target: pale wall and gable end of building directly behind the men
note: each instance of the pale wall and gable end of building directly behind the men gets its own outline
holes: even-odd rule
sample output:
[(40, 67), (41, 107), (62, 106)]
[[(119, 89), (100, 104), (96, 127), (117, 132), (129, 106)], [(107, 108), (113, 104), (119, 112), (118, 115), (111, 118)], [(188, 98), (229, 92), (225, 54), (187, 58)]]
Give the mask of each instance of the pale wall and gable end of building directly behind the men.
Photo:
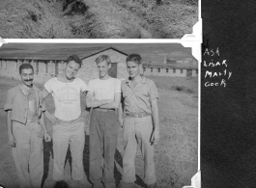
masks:
[[(82, 67), (77, 72), (77, 77), (82, 78), (87, 84), (89, 80), (98, 78), (98, 69), (95, 60), (100, 55), (108, 55), (112, 63), (118, 63), (117, 77), (126, 79), (128, 77), (126, 55), (115, 50), (109, 49), (89, 58), (83, 59)], [(62, 74), (63, 68), (66, 67), (64, 61), (43, 61), (43, 60), (0, 60), (0, 76), (19, 80), (18, 67), (23, 63), (30, 63), (34, 67), (34, 82), (44, 84), (47, 80)], [(56, 66), (57, 64), (57, 66)], [(55, 69), (57, 67), (57, 70)]]

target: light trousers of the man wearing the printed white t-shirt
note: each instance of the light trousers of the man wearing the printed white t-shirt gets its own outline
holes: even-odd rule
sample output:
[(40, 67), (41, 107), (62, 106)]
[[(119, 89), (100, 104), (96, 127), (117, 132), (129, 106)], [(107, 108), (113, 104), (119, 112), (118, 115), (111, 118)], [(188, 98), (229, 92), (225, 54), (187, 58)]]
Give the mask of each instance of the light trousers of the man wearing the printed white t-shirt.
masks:
[(84, 121), (53, 125), (53, 180), (64, 180), (65, 159), (71, 149), (71, 177), (81, 180), (84, 177), (83, 150), (85, 142)]

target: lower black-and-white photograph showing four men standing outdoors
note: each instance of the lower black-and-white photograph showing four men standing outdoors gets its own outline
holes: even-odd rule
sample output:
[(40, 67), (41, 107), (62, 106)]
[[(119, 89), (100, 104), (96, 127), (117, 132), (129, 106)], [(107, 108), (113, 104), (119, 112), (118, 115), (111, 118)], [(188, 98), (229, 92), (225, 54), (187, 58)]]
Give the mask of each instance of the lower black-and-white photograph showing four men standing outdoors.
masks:
[[(120, 9), (130, 9), (128, 5), (134, 3), (90, 3), (100, 6), (100, 2), (116, 2), (124, 6)], [(53, 13), (60, 1), (33, 3), (38, 8), (52, 5)], [(78, 20), (82, 13), (74, 12), (79, 9), (88, 10), (82, 1), (71, 1), (63, 11), (65, 22), (71, 16)], [(68, 27), (62, 24), (58, 26)], [(10, 36), (17, 36), (13, 31)], [(30, 32), (18, 37), (39, 37), (36, 30)], [(4, 43), (0, 48), (0, 185), (191, 185), (191, 177), (200, 170), (199, 75), (191, 48), (180, 43)]]

